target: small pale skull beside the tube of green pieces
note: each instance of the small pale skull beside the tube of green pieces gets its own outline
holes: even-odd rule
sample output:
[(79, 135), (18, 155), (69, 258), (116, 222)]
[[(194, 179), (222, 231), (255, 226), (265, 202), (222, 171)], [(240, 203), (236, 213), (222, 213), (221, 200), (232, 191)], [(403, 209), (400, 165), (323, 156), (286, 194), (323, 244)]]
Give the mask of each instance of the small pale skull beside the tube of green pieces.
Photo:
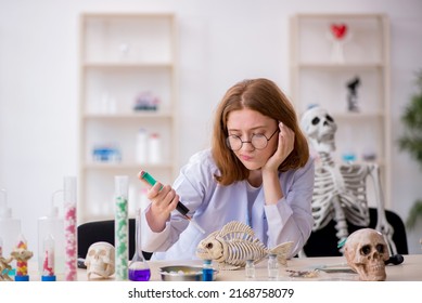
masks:
[(115, 249), (108, 242), (94, 242), (87, 252), (85, 265), (87, 265), (88, 279), (92, 274), (99, 275), (102, 278), (108, 278), (114, 274)]

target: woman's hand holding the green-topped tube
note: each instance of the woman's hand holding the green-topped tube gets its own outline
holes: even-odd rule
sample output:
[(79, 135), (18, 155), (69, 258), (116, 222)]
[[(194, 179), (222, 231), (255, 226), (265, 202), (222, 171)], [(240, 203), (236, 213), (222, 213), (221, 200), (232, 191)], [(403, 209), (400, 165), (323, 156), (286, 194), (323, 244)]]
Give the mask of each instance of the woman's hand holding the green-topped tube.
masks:
[(189, 209), (180, 201), (179, 195), (176, 194), (170, 185), (164, 186), (145, 171), (141, 171), (138, 177), (150, 186), (146, 198), (152, 203), (150, 210), (146, 212), (146, 221), (153, 232), (163, 232), (166, 227), (167, 220), (170, 218), (170, 213), (177, 209), (201, 233), (205, 234), (205, 230), (187, 214)]

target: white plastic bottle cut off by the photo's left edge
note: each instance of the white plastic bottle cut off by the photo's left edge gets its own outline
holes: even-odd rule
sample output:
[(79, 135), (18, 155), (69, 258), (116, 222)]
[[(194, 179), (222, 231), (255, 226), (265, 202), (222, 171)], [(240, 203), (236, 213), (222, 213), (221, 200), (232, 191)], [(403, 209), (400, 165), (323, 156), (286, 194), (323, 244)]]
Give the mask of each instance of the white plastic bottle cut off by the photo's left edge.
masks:
[(2, 241), (2, 255), (9, 258), (21, 235), (21, 220), (12, 218), (12, 209), (8, 208), (8, 194), (0, 189), (0, 238)]

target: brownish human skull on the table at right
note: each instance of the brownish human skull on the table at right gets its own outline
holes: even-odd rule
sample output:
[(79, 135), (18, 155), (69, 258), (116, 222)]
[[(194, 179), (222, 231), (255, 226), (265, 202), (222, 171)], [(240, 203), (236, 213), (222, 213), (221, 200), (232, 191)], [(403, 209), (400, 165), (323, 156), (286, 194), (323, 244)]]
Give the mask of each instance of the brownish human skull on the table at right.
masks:
[(381, 233), (361, 228), (347, 237), (344, 246), (347, 264), (363, 281), (386, 279), (385, 261), (389, 259), (388, 247)]

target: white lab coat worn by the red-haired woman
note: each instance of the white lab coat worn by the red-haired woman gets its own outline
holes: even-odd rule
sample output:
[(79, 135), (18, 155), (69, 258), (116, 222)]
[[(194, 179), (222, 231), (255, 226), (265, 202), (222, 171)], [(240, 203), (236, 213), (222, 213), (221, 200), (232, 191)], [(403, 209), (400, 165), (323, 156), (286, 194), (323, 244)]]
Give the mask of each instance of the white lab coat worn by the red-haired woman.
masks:
[(154, 252), (154, 260), (196, 259), (199, 242), (234, 220), (250, 224), (255, 236), (268, 248), (294, 241), (290, 255), (294, 256), (305, 245), (314, 224), (314, 160), (309, 157), (304, 168), (281, 173), (284, 197), (277, 205), (266, 206), (261, 187), (248, 211), (247, 181), (219, 185), (214, 179), (218, 169), (210, 149), (200, 152), (181, 169), (174, 188), (189, 208), (188, 214), (206, 233), (189, 224), (178, 211), (171, 213), (163, 232), (154, 233), (143, 214), (142, 250)]

